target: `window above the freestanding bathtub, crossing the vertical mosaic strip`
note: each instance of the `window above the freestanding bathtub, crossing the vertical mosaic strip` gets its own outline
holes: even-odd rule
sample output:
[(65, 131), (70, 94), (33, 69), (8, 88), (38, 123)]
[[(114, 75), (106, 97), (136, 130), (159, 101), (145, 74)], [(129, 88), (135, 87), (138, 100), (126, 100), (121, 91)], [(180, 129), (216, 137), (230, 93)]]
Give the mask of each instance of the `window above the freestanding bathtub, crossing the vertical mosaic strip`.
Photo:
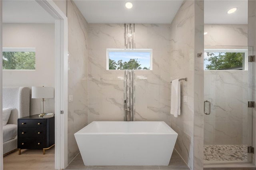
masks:
[(152, 49), (107, 49), (108, 70), (152, 70)]

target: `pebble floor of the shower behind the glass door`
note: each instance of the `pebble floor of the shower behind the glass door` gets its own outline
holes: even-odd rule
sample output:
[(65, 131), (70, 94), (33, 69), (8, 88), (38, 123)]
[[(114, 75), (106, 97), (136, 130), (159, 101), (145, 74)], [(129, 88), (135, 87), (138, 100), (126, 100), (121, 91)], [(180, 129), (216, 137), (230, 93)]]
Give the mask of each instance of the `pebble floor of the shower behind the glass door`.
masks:
[(247, 161), (247, 145), (204, 145), (204, 161)]

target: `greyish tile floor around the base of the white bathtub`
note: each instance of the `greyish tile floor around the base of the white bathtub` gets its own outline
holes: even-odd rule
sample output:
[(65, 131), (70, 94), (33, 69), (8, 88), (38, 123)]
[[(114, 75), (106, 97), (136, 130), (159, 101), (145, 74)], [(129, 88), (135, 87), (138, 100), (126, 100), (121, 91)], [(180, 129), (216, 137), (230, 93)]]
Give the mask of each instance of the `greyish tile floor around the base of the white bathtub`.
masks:
[(168, 166), (85, 166), (80, 154), (65, 170), (190, 170), (180, 155), (173, 151)]

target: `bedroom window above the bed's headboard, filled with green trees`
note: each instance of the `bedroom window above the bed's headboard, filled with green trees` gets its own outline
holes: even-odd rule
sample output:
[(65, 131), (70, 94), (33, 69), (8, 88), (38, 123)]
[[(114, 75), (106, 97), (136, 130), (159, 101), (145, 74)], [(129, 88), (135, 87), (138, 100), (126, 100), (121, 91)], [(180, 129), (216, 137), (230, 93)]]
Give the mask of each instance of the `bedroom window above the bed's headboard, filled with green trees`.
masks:
[(35, 48), (3, 48), (3, 69), (35, 70)]

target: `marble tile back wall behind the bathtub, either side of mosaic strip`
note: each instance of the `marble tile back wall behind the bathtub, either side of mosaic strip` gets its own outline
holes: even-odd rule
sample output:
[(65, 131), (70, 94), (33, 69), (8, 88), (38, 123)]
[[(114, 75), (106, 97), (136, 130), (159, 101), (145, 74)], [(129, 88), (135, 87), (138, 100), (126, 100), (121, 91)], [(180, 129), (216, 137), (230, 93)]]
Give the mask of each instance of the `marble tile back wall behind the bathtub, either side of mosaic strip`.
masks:
[[(89, 24), (88, 34), (88, 121), (123, 121), (124, 71), (106, 70), (106, 49), (125, 48), (124, 24)], [(134, 71), (135, 120), (170, 125), (170, 24), (135, 24), (135, 37), (153, 49), (153, 70)]]

